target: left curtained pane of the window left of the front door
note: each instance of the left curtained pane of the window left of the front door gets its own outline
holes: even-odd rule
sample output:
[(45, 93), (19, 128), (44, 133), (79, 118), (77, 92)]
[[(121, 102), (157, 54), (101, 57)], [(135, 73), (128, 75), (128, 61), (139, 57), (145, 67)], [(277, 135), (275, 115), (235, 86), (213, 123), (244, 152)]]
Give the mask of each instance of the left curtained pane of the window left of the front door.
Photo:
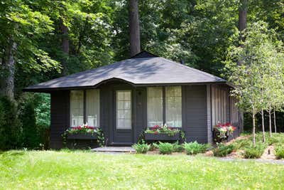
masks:
[(84, 91), (70, 91), (70, 124), (71, 127), (77, 127), (84, 122)]

